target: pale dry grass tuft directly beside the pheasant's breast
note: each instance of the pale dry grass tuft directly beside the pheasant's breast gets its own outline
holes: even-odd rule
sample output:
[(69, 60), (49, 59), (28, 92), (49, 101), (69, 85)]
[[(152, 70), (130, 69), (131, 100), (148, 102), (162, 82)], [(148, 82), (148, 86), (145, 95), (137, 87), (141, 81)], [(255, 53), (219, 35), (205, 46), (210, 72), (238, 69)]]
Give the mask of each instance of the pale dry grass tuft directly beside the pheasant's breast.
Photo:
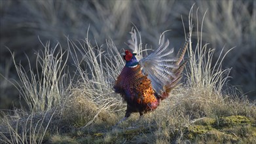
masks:
[[(113, 112), (124, 110), (121, 97), (113, 91), (113, 83), (124, 61), (113, 41), (107, 41), (106, 45), (106, 48), (92, 46), (88, 37), (77, 43), (68, 39), (68, 50), (76, 67), (77, 82), (71, 89), (71, 96), (67, 99), (66, 106), (62, 109), (62, 117), (71, 121), (80, 119), (80, 124), (76, 124), (77, 126), (86, 127), (98, 117), (102, 118), (105, 117), (103, 115), (112, 115)], [(79, 109), (83, 109), (82, 115), (81, 113), (70, 115), (69, 112), (80, 111)]]

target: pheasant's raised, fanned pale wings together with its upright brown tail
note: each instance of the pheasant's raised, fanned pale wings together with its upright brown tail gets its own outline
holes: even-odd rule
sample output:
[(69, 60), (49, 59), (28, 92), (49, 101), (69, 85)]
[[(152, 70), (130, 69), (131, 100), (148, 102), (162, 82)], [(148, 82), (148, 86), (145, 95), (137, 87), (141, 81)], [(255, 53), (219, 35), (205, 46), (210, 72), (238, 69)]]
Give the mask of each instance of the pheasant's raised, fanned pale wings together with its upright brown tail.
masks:
[[(130, 48), (134, 49), (134, 53), (138, 52), (136, 31), (131, 32), (132, 41), (129, 42)], [(181, 63), (183, 56), (189, 44), (189, 37), (185, 45), (179, 50), (177, 56), (173, 56), (174, 48), (168, 48), (169, 41), (165, 41), (164, 35), (160, 37), (160, 41), (153, 53), (142, 58), (139, 64), (142, 67), (144, 75), (151, 80), (151, 84), (156, 93), (164, 99), (168, 96), (168, 92), (177, 85), (181, 79), (183, 68), (187, 61)]]

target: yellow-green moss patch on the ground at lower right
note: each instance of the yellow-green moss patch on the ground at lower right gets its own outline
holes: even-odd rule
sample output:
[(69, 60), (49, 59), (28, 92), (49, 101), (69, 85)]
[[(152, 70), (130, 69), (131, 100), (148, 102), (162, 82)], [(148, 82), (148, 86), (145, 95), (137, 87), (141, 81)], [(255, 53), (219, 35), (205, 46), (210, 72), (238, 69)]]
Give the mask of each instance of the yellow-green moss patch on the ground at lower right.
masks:
[(244, 116), (221, 117), (219, 120), (203, 118), (185, 131), (185, 138), (193, 142), (253, 143), (255, 126)]

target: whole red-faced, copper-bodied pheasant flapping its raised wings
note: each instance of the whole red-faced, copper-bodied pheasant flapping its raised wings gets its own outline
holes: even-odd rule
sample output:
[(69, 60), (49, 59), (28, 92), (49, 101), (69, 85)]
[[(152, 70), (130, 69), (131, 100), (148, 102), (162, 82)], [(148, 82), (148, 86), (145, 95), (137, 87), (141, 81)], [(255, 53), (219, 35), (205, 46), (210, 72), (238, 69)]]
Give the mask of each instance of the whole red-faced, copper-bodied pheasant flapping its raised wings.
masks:
[[(189, 45), (190, 33), (185, 45), (179, 50), (177, 56), (168, 58), (174, 48), (167, 50), (169, 41), (160, 37), (157, 48), (145, 58), (137, 60), (138, 52), (136, 30), (130, 32), (132, 40), (128, 41), (133, 50), (125, 50), (123, 58), (126, 61), (124, 68), (113, 86), (115, 92), (122, 96), (127, 103), (125, 117), (117, 124), (130, 117), (131, 113), (143, 114), (151, 112), (158, 107), (161, 100), (166, 99), (171, 90), (181, 80), (182, 71), (187, 63), (183, 63), (184, 54)], [(166, 51), (167, 52), (164, 52)]]

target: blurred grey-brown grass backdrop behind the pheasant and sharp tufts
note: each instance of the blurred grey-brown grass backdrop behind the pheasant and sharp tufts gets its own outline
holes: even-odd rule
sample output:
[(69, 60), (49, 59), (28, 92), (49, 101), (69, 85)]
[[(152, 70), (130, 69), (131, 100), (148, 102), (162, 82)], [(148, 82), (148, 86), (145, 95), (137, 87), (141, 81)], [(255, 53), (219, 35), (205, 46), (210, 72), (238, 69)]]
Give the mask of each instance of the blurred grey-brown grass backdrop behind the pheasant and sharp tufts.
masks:
[[(221, 50), (226, 53), (235, 46), (226, 56), (223, 68), (232, 67), (230, 76), (234, 79), (230, 79), (230, 83), (237, 86), (242, 94), (254, 99), (255, 1), (1, 1), (0, 73), (19, 81), (10, 52), (5, 46), (15, 52), (16, 62), (22, 63), (28, 71), (24, 52), (29, 56), (31, 68), (36, 69), (37, 56), (33, 54), (34, 50), (44, 47), (40, 45), (38, 35), (43, 43), (50, 40), (54, 47), (60, 42), (66, 49), (65, 36), (84, 39), (89, 26), (88, 39), (94, 46), (96, 43), (105, 44), (105, 39), (112, 39), (120, 50), (126, 46), (124, 41), (128, 39), (127, 31), (130, 31), (134, 23), (141, 31), (142, 41), (149, 48), (158, 44), (156, 39), (160, 32), (172, 28), (171, 33), (166, 33), (166, 37), (177, 41), (171, 43), (171, 47), (177, 48), (184, 39), (181, 14), (183, 17), (188, 16), (193, 3), (200, 7), (197, 12), (200, 19), (208, 10), (202, 36), (204, 42), (210, 43), (208, 47), (215, 48), (213, 63), (217, 61)], [(196, 16), (194, 20), (196, 21)], [(185, 24), (188, 24), (187, 20)], [(71, 65), (73, 62), (68, 63)], [(4, 109), (12, 107), (13, 103), (9, 98), (16, 99), (19, 93), (3, 77), (0, 79), (0, 106)], [(16, 103), (14, 106), (18, 106)]]

